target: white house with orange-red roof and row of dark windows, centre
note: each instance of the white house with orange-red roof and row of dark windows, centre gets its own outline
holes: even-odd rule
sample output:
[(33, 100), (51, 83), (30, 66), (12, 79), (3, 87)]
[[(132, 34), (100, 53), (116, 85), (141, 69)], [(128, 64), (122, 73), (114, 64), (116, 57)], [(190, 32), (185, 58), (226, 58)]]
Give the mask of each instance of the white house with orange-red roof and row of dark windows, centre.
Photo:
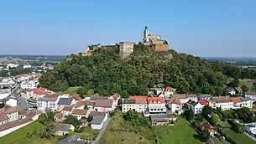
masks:
[(166, 113), (165, 99), (162, 97), (148, 97), (149, 113)]

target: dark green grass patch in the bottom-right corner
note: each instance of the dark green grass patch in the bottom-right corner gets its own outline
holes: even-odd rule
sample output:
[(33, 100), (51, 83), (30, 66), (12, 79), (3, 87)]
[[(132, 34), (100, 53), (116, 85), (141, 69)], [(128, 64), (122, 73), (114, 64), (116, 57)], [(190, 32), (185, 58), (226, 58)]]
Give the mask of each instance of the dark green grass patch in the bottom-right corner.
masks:
[(255, 144), (256, 141), (253, 141), (250, 137), (246, 136), (244, 133), (236, 133), (229, 128), (223, 129), (225, 134), (230, 137), (233, 141), (236, 141), (238, 144)]

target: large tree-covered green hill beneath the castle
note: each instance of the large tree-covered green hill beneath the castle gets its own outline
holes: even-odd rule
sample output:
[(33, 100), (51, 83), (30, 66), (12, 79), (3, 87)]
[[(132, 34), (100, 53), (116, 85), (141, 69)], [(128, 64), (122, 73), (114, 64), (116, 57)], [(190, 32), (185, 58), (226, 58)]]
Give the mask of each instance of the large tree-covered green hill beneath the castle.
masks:
[(118, 47), (97, 49), (90, 57), (70, 55), (39, 79), (40, 86), (62, 91), (83, 86), (101, 95), (119, 93), (147, 95), (157, 84), (169, 85), (180, 93), (221, 95), (229, 78), (255, 78), (252, 69), (209, 62), (175, 50), (154, 52), (149, 46), (137, 44), (128, 59), (120, 59)]

